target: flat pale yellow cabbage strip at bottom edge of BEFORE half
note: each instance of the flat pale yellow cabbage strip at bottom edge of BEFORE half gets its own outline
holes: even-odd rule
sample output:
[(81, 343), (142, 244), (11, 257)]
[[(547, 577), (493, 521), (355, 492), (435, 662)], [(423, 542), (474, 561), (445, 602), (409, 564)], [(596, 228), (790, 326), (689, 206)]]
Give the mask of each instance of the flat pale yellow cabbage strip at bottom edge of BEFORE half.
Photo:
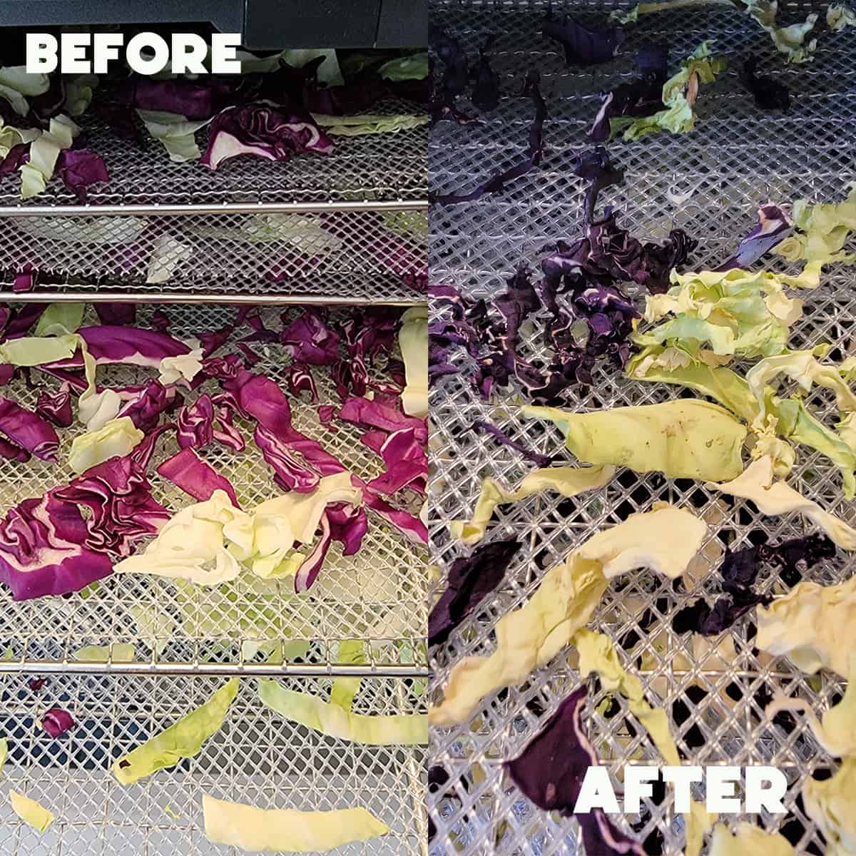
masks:
[(205, 837), (249, 853), (315, 853), (386, 835), (389, 827), (364, 808), (335, 811), (262, 809), (202, 795)]

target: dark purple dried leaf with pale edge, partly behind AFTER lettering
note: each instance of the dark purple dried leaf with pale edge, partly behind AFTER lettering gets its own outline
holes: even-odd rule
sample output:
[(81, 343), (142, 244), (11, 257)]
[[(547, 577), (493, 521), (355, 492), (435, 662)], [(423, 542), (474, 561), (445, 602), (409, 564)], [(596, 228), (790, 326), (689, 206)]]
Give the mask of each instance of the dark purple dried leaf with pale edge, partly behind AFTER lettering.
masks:
[[(598, 763), (597, 752), (582, 722), (585, 704), (586, 687), (574, 690), (523, 752), (503, 764), (512, 782), (538, 808), (558, 811), (564, 817), (574, 815), (586, 771)], [(645, 856), (639, 842), (615, 829), (603, 809), (575, 817), (582, 829), (586, 853)]]

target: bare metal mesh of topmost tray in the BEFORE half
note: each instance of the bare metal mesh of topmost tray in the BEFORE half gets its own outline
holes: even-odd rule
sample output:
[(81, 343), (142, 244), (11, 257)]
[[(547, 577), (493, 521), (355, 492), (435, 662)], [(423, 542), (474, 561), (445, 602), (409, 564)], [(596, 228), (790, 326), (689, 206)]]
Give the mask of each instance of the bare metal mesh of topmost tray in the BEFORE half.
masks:
[[(376, 104), (372, 113), (419, 114), (425, 109), (407, 101)], [(83, 116), (86, 146), (104, 158), (110, 181), (88, 194), (87, 204), (105, 205), (300, 205), (335, 207), (342, 202), (425, 202), (425, 126), (396, 134), (333, 137), (330, 155), (297, 155), (272, 163), (263, 158), (235, 158), (219, 169), (198, 161), (174, 163), (163, 146), (143, 131), (145, 143), (122, 140), (103, 124)], [(205, 152), (207, 130), (196, 135)], [(62, 208), (76, 199), (51, 181), (45, 193), (22, 202), (17, 181), (3, 182), (0, 206), (26, 210), (32, 206)], [(3, 211), (8, 213), (8, 211)]]

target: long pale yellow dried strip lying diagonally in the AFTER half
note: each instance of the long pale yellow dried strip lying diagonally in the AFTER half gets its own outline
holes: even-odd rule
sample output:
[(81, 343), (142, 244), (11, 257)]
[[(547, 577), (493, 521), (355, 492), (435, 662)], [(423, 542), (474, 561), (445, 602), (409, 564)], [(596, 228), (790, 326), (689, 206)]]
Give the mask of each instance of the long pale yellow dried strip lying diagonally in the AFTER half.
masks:
[(610, 577), (633, 568), (673, 579), (683, 574), (706, 530), (693, 514), (662, 503), (598, 532), (544, 574), (525, 606), (496, 622), (496, 651), (455, 663), (443, 703), (429, 710), (429, 722), (466, 722), (485, 696), (549, 663), (586, 626)]

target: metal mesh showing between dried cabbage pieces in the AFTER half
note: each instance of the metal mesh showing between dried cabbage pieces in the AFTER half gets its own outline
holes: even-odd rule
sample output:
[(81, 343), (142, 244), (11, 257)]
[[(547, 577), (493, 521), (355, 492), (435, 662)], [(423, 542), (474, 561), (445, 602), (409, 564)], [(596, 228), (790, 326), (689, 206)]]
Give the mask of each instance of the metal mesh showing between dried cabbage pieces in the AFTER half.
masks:
[[(501, 197), (432, 207), (432, 282), (448, 282), (467, 294), (495, 293), (520, 260), (535, 268), (550, 243), (580, 234), (584, 187), (569, 172), (569, 156), (585, 145), (586, 124), (599, 103), (597, 93), (627, 80), (634, 47), (644, 39), (667, 40), (673, 62), (707, 38), (715, 38), (716, 48), (732, 61), (755, 53), (764, 73), (787, 80), (794, 106), (788, 116), (760, 113), (741, 91), (732, 62), (721, 80), (702, 87), (698, 124), (692, 134), (610, 143), (610, 154), (626, 169), (626, 180), (621, 187), (606, 190), (599, 205), (616, 205), (625, 211), (623, 222), (631, 224), (634, 235), (662, 239), (673, 226), (680, 226), (701, 240), (693, 265), (715, 266), (728, 258), (740, 235), (752, 226), (759, 204), (768, 199), (788, 202), (801, 195), (841, 199), (847, 181), (856, 178), (852, 35), (822, 33), (815, 61), (792, 68), (774, 56), (767, 37), (751, 21), (723, 9), (695, 8), (649, 15), (628, 28), (628, 44), (615, 62), (565, 68), (556, 44), (539, 33), (545, 5), (434, 4), (433, 20), (454, 32), (471, 56), (488, 33), (498, 34), (493, 65), (501, 74), (504, 93), (520, 85), (527, 68), (538, 68), (550, 119), (544, 126), (548, 153), (541, 169), (514, 182)], [(561, 4), (554, 3), (554, 9), (557, 6)], [(575, 14), (580, 10), (578, 5), (573, 8)], [(825, 6), (817, 9), (823, 17)], [(798, 11), (788, 4), (784, 21), (795, 20)], [(530, 112), (528, 99), (505, 94), (484, 125), (438, 125), (430, 147), (432, 190), (466, 192), (497, 164), (510, 163), (515, 157), (510, 141), (520, 140), (520, 149), (526, 145)], [(683, 194), (689, 195), (680, 199)], [(800, 295), (805, 299), (805, 316), (794, 326), (792, 347), (831, 342), (834, 359), (856, 353), (854, 286), (853, 268), (833, 265), (821, 288)], [(524, 340), (525, 353), (538, 355), (542, 346), (535, 334), (527, 334)], [(738, 371), (745, 369), (738, 367)], [(517, 453), (498, 448), (490, 437), (467, 431), (473, 420), (492, 419), (539, 452), (561, 453), (559, 431), (521, 420), (515, 407), (520, 399), (514, 393), (480, 401), (466, 372), (443, 377), (431, 390), (435, 425), (431, 541), (432, 557), (441, 567), (463, 555), (461, 547), (449, 543), (449, 522), (468, 517), (481, 479), (490, 475), (517, 484), (531, 468)], [(631, 382), (601, 366), (591, 389), (572, 392), (567, 406), (599, 409), (665, 401), (678, 394), (676, 388)], [(827, 425), (834, 423), (835, 402), (829, 396), (812, 393), (805, 401)], [(853, 504), (843, 500), (835, 468), (811, 449), (798, 451), (799, 465), (791, 477), (794, 486), (853, 523)], [(565, 455), (568, 461), (560, 454), (556, 463), (574, 460)], [(750, 503), (716, 496), (700, 484), (627, 470), (603, 490), (574, 500), (544, 495), (498, 509), (485, 542), (514, 536), (523, 542), (523, 549), (495, 595), (482, 603), (449, 643), (432, 649), (431, 699), (436, 702), (442, 697), (449, 669), (461, 657), (493, 650), (492, 627), (499, 617), (526, 602), (544, 570), (564, 560), (594, 532), (634, 511), (651, 508), (658, 499), (691, 508), (708, 522), (709, 538), (701, 558), (694, 562), (683, 590), (650, 573), (615, 580), (589, 626), (615, 640), (622, 662), (642, 680), (646, 698), (667, 710), (687, 763), (773, 764), (786, 773), (788, 814), (731, 815), (727, 823), (748, 819), (767, 829), (785, 830), (797, 852), (819, 856), (825, 845), (805, 817), (800, 787), (807, 776), (835, 769), (837, 762), (823, 753), (804, 719), (794, 717), (796, 727), (788, 731), (767, 722), (763, 710), (769, 693), (781, 689), (809, 699), (819, 714), (840, 698), (842, 681), (827, 672), (809, 678), (783, 657), (759, 655), (752, 642), (751, 615), (719, 639), (677, 634), (671, 627), (675, 612), (695, 597), (704, 595), (712, 602), (716, 596), (716, 568), (726, 544), (734, 549), (758, 543), (759, 538), (788, 538), (808, 531), (793, 516), (764, 518)], [(852, 573), (852, 559), (839, 551), (835, 560), (817, 566), (804, 578), (829, 584)], [(766, 570), (758, 590), (781, 594), (787, 587)], [(519, 753), (562, 698), (579, 685), (574, 666), (574, 654), (568, 652), (522, 685), (486, 698), (470, 722), (432, 730), (429, 763), (442, 764), (449, 782), (429, 796), (429, 815), (437, 825), (431, 853), (580, 852), (576, 824), (535, 808), (503, 777), (501, 767), (502, 760)], [(626, 702), (614, 697), (609, 707), (602, 705), (608, 693), (596, 681), (589, 689), (584, 718), (603, 763), (614, 774), (631, 760), (662, 763)], [(696, 796), (703, 796), (703, 791)], [(663, 804), (644, 800), (644, 806), (643, 815), (615, 816), (616, 823), (632, 829), (646, 842), (649, 853), (681, 853), (684, 825), (675, 816), (670, 794)]]

